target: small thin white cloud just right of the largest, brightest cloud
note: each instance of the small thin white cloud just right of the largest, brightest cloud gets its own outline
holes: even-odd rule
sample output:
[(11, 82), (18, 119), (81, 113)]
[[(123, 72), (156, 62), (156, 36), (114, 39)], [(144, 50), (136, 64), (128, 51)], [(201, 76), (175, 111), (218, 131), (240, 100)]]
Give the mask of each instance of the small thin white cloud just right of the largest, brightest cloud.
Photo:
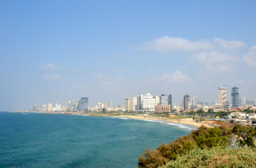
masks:
[(225, 39), (220, 38), (214, 38), (214, 42), (219, 44), (220, 47), (223, 47), (225, 49), (241, 49), (246, 47), (246, 44), (244, 44), (243, 41), (227, 41)]

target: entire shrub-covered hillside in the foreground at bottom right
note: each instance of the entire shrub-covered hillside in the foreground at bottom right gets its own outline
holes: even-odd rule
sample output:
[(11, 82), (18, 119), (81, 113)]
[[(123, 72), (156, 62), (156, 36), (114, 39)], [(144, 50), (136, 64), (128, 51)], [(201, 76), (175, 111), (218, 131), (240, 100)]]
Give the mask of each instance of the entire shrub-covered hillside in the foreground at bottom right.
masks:
[(199, 127), (155, 150), (146, 149), (138, 167), (256, 167), (255, 136), (256, 127)]

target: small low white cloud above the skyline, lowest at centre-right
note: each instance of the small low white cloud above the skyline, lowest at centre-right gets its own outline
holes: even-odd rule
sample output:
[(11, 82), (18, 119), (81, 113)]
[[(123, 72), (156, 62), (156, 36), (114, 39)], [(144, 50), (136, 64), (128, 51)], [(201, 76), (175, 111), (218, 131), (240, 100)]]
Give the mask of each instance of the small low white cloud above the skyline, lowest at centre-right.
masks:
[(170, 83), (183, 83), (187, 81), (192, 81), (189, 76), (182, 73), (181, 71), (176, 71), (173, 73), (165, 73), (162, 76), (158, 76), (161, 81), (168, 81)]

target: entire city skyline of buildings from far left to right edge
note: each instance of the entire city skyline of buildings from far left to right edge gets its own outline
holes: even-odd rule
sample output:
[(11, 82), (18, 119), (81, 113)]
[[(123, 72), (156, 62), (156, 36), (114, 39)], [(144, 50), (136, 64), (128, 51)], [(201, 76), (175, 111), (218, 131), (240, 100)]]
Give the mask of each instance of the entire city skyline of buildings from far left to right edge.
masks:
[(232, 111), (233, 108), (241, 106), (247, 107), (248, 105), (255, 105), (255, 101), (246, 100), (243, 95), (240, 95), (238, 87), (233, 87), (230, 90), (230, 102), (227, 101), (227, 88), (218, 88), (217, 103), (203, 103), (199, 101), (199, 97), (190, 96), (186, 93), (180, 103), (174, 103), (171, 94), (151, 95), (149, 92), (144, 95), (137, 95), (135, 97), (127, 97), (124, 100), (124, 107), (121, 105), (113, 106), (112, 101), (108, 100), (107, 103), (97, 103), (97, 105), (89, 107), (88, 97), (81, 97), (80, 100), (69, 100), (67, 105), (52, 103), (47, 105), (34, 105), (32, 111), (45, 111), (45, 112), (116, 112), (127, 111), (137, 113), (171, 113), (171, 112), (186, 112), (202, 110), (207, 112), (211, 111)]

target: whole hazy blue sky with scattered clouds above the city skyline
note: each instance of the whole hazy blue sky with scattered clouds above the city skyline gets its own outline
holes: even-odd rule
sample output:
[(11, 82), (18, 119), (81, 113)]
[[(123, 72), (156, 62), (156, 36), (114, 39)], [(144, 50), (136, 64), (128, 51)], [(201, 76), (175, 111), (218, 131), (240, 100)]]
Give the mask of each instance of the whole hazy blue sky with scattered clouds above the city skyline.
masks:
[(0, 1), (0, 111), (150, 92), (255, 100), (255, 1)]

